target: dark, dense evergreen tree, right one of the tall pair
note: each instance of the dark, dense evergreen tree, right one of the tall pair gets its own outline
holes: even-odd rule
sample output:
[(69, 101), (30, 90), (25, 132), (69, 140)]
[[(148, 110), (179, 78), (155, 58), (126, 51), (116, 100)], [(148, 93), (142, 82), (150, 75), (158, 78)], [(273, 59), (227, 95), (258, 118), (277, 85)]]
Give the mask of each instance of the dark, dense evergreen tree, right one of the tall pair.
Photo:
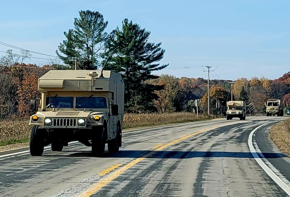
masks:
[(104, 58), (108, 58), (104, 70), (113, 70), (122, 75), (125, 83), (125, 106), (127, 109), (154, 110), (153, 100), (158, 96), (155, 90), (163, 87), (145, 83), (156, 79), (151, 74), (168, 66), (160, 65), (165, 50), (158, 44), (148, 42), (150, 32), (138, 24), (124, 19), (122, 29), (117, 27), (111, 32), (105, 45)]

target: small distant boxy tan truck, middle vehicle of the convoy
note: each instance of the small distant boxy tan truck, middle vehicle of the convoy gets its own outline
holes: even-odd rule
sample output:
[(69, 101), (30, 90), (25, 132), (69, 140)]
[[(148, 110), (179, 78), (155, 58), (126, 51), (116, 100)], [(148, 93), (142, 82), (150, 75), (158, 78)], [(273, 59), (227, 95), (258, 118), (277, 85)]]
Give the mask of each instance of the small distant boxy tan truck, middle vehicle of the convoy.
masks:
[(246, 102), (244, 101), (228, 101), (226, 102), (226, 120), (232, 118), (240, 118), (246, 120)]

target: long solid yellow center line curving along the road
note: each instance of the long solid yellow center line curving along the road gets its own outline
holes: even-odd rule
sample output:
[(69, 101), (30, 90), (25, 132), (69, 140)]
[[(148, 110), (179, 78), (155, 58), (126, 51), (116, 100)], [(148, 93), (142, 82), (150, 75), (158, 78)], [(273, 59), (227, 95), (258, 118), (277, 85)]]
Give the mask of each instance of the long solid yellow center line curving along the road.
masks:
[[(131, 161), (130, 163), (128, 163), (127, 165), (123, 166), (122, 168), (114, 171), (114, 173), (110, 174), (108, 177), (104, 178), (102, 181), (100, 181), (97, 184), (92, 185), (92, 187), (90, 187), (89, 189), (87, 189), (86, 191), (82, 192), (78, 197), (87, 197), (87, 196), (91, 196), (92, 194), (96, 193), (98, 190), (100, 190), (101, 188), (103, 188), (104, 186), (106, 186), (107, 184), (109, 184), (109, 182), (111, 182), (112, 180), (114, 180), (115, 178), (117, 178), (118, 176), (120, 176), (120, 174), (122, 174), (123, 172), (125, 172), (126, 170), (128, 170), (129, 168), (131, 168), (132, 166), (136, 165), (137, 163), (141, 162), (142, 160), (146, 159), (147, 157), (150, 157), (151, 155), (153, 155), (154, 153), (156, 153), (156, 151), (160, 151), (162, 149), (165, 149), (168, 146), (171, 146), (173, 144), (176, 144), (177, 142), (187, 139), (189, 137), (198, 135), (200, 133), (203, 133), (205, 131), (209, 131), (209, 130), (213, 130), (216, 129), (218, 127), (222, 127), (222, 126), (227, 126), (227, 125), (232, 125), (235, 123), (230, 123), (230, 124), (226, 124), (226, 125), (219, 125), (219, 126), (215, 126), (215, 127), (211, 127), (209, 129), (204, 129), (201, 131), (198, 131), (196, 133), (190, 134), (190, 135), (186, 135), (183, 136), (177, 140), (174, 140), (172, 142), (169, 142), (163, 146), (160, 146), (159, 148), (147, 153), (146, 155), (143, 155), (142, 157), (139, 157), (137, 159), (134, 159), (133, 161)], [(108, 168), (109, 169), (109, 168)]]

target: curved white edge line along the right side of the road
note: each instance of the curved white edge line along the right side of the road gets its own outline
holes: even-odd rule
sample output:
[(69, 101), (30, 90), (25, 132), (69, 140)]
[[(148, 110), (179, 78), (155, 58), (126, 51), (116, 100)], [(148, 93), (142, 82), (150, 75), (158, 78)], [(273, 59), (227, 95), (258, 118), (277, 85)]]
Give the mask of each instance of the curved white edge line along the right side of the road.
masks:
[(250, 148), (250, 151), (254, 157), (254, 159), (256, 160), (256, 162), (259, 164), (259, 166), (270, 176), (270, 178), (272, 178), (272, 180), (279, 185), (279, 187), (281, 187), (289, 196), (290, 196), (290, 187), (289, 185), (287, 185), (279, 176), (276, 175), (276, 173), (274, 173), (264, 162), (263, 160), (259, 157), (259, 155), (257, 154), (254, 146), (253, 146), (253, 134), (254, 132), (256, 132), (259, 128), (266, 126), (268, 124), (271, 124), (272, 122), (268, 122), (265, 123), (263, 125), (260, 125), (258, 127), (256, 127), (254, 130), (252, 130), (252, 132), (249, 135), (248, 138), (248, 146)]

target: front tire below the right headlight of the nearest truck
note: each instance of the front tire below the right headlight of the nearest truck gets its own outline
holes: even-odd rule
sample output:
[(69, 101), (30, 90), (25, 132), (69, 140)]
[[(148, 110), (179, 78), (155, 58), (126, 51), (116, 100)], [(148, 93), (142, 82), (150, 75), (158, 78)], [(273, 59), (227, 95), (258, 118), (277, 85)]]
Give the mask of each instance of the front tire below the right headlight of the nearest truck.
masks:
[(94, 130), (92, 139), (92, 154), (96, 157), (100, 157), (105, 152), (105, 128), (102, 127), (101, 130)]

